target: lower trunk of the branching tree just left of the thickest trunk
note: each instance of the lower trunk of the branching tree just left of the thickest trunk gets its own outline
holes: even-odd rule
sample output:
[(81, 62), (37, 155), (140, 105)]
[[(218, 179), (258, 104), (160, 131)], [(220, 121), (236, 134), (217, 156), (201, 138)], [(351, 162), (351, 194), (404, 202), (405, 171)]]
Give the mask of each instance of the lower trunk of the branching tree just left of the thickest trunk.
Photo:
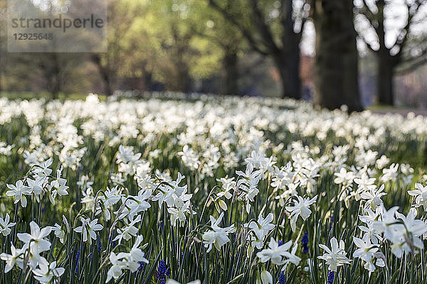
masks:
[(297, 52), (294, 53), (280, 53), (273, 58), (280, 74), (282, 97), (300, 99), (302, 89), (300, 80), (300, 49), (298, 48)]

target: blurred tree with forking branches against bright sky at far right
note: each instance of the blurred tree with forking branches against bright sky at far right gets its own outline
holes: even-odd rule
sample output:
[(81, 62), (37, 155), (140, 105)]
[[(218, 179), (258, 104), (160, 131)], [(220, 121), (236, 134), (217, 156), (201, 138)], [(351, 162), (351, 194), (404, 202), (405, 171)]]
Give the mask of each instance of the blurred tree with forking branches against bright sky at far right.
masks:
[(362, 0), (356, 4), (359, 37), (376, 57), (376, 90), (381, 104), (394, 104), (396, 68), (403, 66), (408, 71), (426, 62), (427, 11), (424, 2)]

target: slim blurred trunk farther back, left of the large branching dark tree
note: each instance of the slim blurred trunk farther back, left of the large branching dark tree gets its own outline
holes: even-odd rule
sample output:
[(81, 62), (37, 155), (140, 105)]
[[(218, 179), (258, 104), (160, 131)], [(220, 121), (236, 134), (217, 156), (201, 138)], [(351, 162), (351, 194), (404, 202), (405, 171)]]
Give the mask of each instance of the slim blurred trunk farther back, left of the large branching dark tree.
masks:
[(235, 48), (225, 48), (222, 94), (238, 94), (238, 56)]

